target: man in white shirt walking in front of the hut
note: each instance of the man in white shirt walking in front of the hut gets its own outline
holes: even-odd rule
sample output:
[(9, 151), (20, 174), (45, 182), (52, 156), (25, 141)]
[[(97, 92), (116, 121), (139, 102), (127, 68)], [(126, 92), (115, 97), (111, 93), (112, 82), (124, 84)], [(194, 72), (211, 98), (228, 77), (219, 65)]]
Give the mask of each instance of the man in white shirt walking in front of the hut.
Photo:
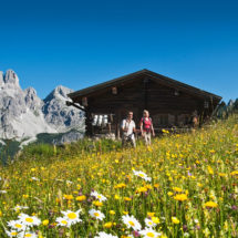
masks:
[(122, 146), (124, 147), (126, 144), (131, 144), (135, 148), (135, 122), (133, 121), (133, 112), (128, 112), (127, 117), (122, 121), (121, 128), (123, 131)]

